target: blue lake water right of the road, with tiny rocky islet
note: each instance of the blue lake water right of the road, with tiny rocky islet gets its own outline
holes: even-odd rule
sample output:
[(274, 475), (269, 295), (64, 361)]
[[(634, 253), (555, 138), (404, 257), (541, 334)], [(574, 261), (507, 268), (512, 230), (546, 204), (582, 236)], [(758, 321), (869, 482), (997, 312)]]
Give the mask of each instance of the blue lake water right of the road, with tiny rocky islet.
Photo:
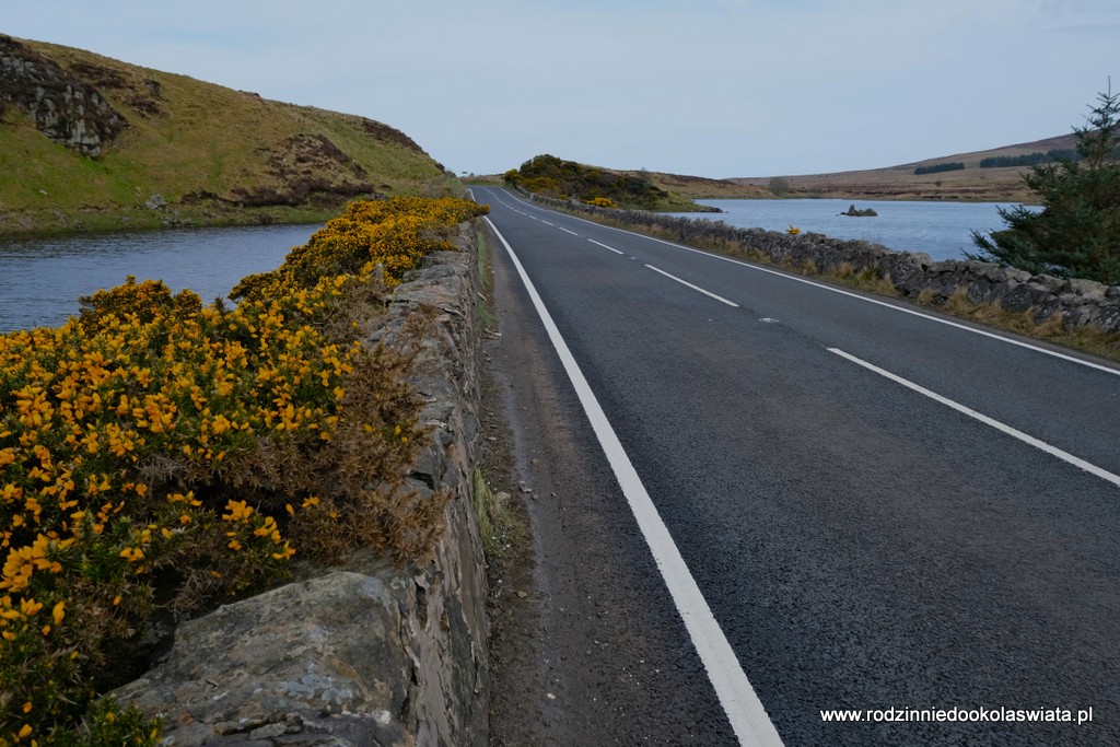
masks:
[[(724, 221), (741, 228), (823, 233), (834, 239), (860, 239), (899, 252), (925, 252), (934, 260), (964, 259), (974, 252), (972, 231), (988, 233), (1004, 226), (997, 203), (943, 203), (851, 199), (698, 199), (724, 213), (676, 213), (683, 217)], [(855, 204), (875, 208), (875, 217), (840, 215)]]

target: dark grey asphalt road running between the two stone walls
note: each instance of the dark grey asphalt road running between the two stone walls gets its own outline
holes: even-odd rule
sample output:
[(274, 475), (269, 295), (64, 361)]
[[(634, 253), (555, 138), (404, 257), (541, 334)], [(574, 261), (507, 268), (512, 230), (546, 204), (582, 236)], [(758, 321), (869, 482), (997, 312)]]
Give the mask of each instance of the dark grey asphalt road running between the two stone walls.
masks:
[[(1114, 366), (474, 194), (786, 745), (1120, 744)], [(534, 707), (536, 739), (735, 744), (500, 260), (521, 295), (505, 354), (535, 372), (510, 400), (539, 426), (520, 456), (560, 496), (534, 516), (562, 535), (538, 539), (540, 582), (588, 599), (544, 605), (536, 676), (562, 689)], [(878, 720), (828, 722), (828, 709)], [(980, 720), (909, 712), (923, 709)]]

